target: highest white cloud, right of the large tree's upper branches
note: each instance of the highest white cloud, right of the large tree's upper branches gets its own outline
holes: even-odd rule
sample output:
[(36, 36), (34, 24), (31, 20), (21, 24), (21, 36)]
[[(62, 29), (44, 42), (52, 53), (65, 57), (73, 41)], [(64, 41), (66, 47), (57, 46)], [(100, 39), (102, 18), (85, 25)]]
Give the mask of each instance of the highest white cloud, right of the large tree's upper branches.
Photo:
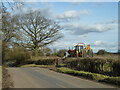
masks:
[(88, 10), (81, 10), (81, 11), (76, 11), (76, 10), (71, 10), (64, 12), (62, 14), (56, 15), (55, 19), (61, 19), (65, 21), (70, 21), (70, 20), (79, 20), (80, 17), (79, 15), (87, 15), (90, 14), (91, 12)]

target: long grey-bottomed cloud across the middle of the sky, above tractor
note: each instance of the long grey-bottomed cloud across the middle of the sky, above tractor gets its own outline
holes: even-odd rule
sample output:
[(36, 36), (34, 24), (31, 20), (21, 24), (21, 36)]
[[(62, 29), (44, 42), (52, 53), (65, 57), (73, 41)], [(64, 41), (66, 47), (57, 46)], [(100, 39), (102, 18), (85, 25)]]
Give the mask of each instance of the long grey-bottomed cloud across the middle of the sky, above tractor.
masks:
[(114, 30), (113, 25), (107, 24), (80, 24), (80, 23), (69, 23), (64, 25), (64, 28), (73, 35), (83, 35), (91, 32), (101, 33), (109, 30)]

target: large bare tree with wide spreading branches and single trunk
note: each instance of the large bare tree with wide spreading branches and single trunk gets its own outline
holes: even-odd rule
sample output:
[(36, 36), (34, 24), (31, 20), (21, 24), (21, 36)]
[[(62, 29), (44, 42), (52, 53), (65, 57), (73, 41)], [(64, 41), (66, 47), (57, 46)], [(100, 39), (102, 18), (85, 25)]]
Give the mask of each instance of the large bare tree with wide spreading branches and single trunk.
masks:
[(54, 21), (41, 16), (40, 11), (30, 11), (15, 15), (16, 27), (22, 32), (24, 47), (34, 50), (35, 56), (40, 47), (51, 44), (61, 38), (61, 27)]

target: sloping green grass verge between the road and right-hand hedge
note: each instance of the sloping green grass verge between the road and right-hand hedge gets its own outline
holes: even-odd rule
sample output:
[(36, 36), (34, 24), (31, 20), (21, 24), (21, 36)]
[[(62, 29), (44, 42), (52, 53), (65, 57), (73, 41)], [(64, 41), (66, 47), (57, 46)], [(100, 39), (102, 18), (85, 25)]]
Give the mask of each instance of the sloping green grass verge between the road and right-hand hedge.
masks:
[(106, 82), (109, 84), (120, 86), (120, 77), (110, 77), (110, 76), (91, 73), (91, 72), (76, 71), (76, 70), (72, 70), (66, 67), (56, 68), (54, 69), (54, 71), (65, 73), (65, 74), (70, 74), (73, 76), (83, 77), (83, 78), (94, 80), (97, 82)]

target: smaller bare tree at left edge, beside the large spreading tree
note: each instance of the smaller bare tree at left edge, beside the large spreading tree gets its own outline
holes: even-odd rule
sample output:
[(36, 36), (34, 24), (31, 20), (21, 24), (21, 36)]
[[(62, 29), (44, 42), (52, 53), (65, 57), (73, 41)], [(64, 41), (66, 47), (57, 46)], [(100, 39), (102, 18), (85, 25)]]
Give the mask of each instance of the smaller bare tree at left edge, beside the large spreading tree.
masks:
[(15, 27), (15, 19), (10, 13), (5, 13), (2, 15), (2, 27), (0, 28), (0, 42), (2, 50), (2, 60), (4, 61), (4, 56), (6, 52), (9, 51), (9, 46), (14, 45), (14, 42), (20, 39), (18, 28)]

